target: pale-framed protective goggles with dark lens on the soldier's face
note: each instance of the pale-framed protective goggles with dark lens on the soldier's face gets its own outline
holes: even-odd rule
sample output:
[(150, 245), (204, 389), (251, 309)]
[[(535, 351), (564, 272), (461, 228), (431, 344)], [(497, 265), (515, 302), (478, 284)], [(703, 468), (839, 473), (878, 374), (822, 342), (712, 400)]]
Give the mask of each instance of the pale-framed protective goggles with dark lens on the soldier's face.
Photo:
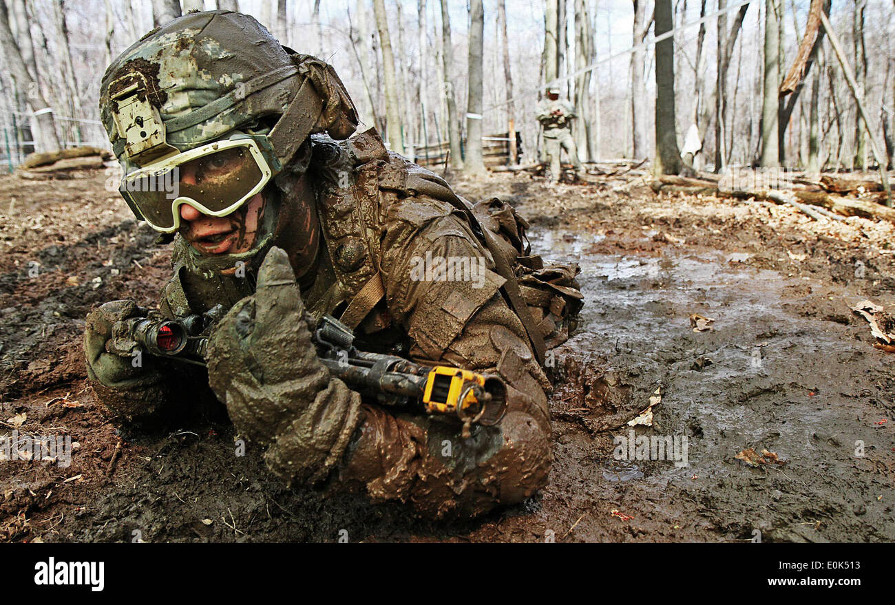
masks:
[(234, 134), (124, 175), (121, 192), (133, 213), (156, 231), (174, 233), (180, 207), (224, 217), (251, 200), (281, 166), (264, 135)]

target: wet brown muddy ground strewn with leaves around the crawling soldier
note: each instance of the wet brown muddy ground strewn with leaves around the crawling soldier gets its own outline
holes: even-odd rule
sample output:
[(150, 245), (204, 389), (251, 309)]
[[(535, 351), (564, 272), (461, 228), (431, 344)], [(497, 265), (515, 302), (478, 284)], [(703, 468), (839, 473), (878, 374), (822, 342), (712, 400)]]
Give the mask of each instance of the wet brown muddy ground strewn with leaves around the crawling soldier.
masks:
[[(0, 462), (2, 541), (893, 541), (895, 354), (849, 311), (895, 305), (895, 229), (761, 202), (658, 196), (643, 179), (458, 181), (581, 263), (580, 328), (552, 358), (554, 464), (523, 505), (463, 524), (286, 490), (226, 418), (137, 434), (85, 382), (84, 317), (153, 304), (168, 251), (102, 172), (0, 177), (0, 438), (69, 435), (70, 466)], [(689, 316), (714, 320), (695, 332)], [(687, 439), (686, 465), (614, 437)], [(24, 415), (22, 415), (24, 414)], [(861, 446), (863, 444), (863, 450)], [(735, 456), (767, 449), (786, 464)], [(766, 458), (767, 459), (767, 458)]]

